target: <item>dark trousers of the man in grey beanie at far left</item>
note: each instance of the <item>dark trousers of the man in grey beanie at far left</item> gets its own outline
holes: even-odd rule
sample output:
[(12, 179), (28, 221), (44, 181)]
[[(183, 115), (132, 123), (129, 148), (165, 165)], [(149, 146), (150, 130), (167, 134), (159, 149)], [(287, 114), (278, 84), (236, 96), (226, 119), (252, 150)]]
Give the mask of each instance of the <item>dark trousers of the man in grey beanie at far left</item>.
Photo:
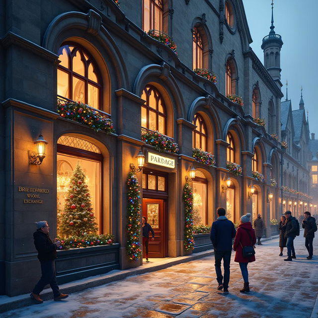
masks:
[(34, 294), (40, 294), (47, 284), (50, 284), (54, 297), (60, 296), (59, 286), (55, 276), (55, 260), (41, 263), (42, 276), (33, 289)]

